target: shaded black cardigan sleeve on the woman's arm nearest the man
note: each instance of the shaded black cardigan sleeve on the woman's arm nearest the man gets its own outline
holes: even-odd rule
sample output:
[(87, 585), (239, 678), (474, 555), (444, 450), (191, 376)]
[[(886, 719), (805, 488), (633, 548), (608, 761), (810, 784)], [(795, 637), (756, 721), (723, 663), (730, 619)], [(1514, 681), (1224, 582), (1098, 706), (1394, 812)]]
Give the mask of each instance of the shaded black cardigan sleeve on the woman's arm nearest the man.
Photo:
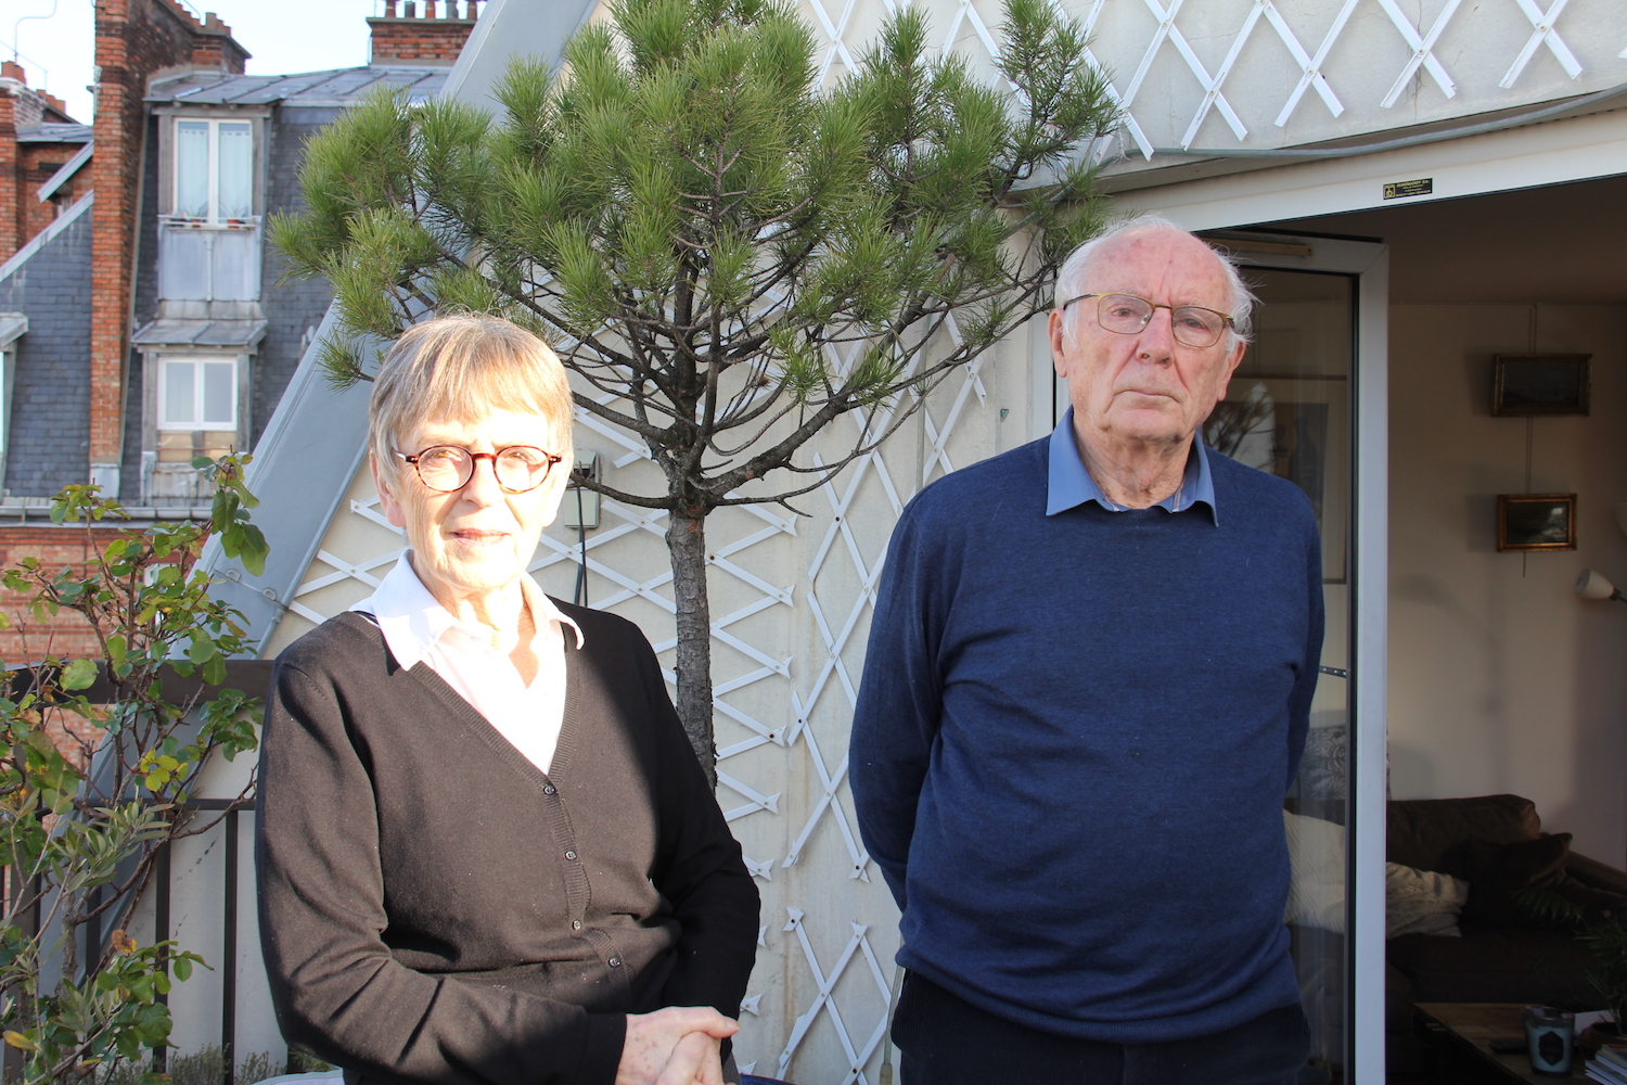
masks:
[(737, 1018), (757, 963), (757, 885), (667, 699), (654, 649), (636, 630), (633, 639), (659, 768), (661, 841), (651, 880), (672, 903), (680, 930), (661, 1002), (709, 1005)]

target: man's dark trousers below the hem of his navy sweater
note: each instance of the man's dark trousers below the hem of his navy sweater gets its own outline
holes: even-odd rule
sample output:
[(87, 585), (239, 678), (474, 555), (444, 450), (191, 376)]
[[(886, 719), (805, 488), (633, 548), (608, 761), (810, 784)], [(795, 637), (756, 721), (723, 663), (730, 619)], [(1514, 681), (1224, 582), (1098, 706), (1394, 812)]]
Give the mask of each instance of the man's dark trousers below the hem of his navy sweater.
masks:
[(1298, 1005), (1214, 1036), (1114, 1044), (1007, 1022), (906, 973), (893, 1017), (901, 1085), (1295, 1085), (1310, 1057)]

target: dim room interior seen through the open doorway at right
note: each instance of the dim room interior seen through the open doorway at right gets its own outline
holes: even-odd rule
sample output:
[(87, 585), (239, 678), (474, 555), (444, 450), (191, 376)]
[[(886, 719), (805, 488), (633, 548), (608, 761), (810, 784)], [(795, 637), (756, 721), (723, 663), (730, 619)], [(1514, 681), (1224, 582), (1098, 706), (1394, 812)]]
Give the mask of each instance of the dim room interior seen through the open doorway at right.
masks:
[[(1430, 844), (1442, 813), (1482, 818), (1471, 834), (1508, 841), (1538, 836), (1541, 818), (1541, 831), (1573, 836), (1573, 872), (1599, 861), (1619, 890), (1619, 870), (1603, 867), (1627, 867), (1627, 607), (1575, 584), (1583, 569), (1627, 584), (1627, 179), (1266, 229), (1389, 249), (1388, 791), (1402, 800), (1391, 804), (1389, 859), (1451, 867)], [(1586, 413), (1575, 402), (1568, 413), (1497, 413), (1497, 358), (1520, 355), (1585, 356)], [(1524, 508), (1508, 503), (1521, 495), (1564, 508), (1567, 530), (1500, 548), (1518, 542), (1515, 514), (1500, 509)], [(1417, 802), (1477, 795), (1529, 805)], [(1393, 1070), (1432, 1065), (1414, 1043), (1412, 1002), (1598, 999), (1568, 930), (1476, 930), (1472, 908), (1464, 939), (1389, 942)]]

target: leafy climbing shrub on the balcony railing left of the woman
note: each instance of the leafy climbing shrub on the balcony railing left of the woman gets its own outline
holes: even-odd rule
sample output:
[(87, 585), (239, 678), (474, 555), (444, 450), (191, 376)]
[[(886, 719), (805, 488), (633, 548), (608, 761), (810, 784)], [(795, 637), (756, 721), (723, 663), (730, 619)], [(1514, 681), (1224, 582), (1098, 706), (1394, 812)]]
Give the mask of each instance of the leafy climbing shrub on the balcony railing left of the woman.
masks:
[[(0, 574), (36, 621), (76, 612), (99, 644), (96, 659), (7, 660), (0, 696), (0, 1026), (21, 1057), (8, 1074), (29, 1085), (89, 1080), (163, 1048), (164, 996), (203, 965), (174, 942), (137, 945), (125, 927), (159, 849), (215, 823), (187, 810), (200, 766), (257, 743), (259, 701), (220, 688), (226, 659), (249, 644), (192, 569), (210, 532), (244, 564), (264, 563), (265, 540), (246, 519), (246, 462), (207, 462), (218, 486), (210, 524), (155, 524), (104, 543), (109, 532), (91, 527), (124, 511), (94, 486), (68, 486), (50, 517), (83, 524), (94, 556), (83, 568), (24, 558)], [(177, 695), (182, 683), (192, 693)], [(54, 732), (93, 740), (65, 753)], [(236, 802), (251, 795), (252, 782)], [(111, 932), (104, 942), (86, 937), (93, 922)]]

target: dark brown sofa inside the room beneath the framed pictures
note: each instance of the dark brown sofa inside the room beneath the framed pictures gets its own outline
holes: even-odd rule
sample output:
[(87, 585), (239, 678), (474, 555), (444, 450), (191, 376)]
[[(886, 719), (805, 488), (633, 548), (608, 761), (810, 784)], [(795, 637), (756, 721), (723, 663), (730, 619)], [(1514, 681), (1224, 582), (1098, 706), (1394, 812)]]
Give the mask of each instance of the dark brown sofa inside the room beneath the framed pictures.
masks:
[(1388, 943), (1391, 1072), (1422, 1069), (1424, 1049), (1412, 1023), (1415, 1002), (1603, 1009), (1585, 976), (1593, 965), (1586, 948), (1568, 929), (1518, 908), (1508, 891), (1536, 877), (1531, 883), (1555, 887), (1599, 913), (1617, 900), (1627, 901), (1627, 874), (1568, 851), (1568, 836), (1544, 834), (1536, 805), (1520, 795), (1391, 802), (1388, 836), (1389, 862), (1469, 882), (1461, 939), (1407, 934)]

